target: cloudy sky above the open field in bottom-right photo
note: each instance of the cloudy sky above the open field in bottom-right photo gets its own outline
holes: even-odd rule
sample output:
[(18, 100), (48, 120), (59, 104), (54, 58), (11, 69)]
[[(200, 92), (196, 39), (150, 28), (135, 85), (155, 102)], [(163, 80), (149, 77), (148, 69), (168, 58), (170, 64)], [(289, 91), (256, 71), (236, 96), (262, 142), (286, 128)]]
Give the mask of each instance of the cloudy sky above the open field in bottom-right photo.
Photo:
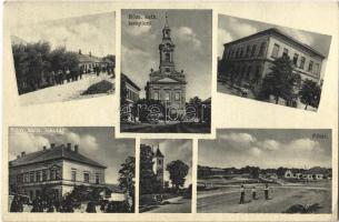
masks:
[(222, 129), (216, 140), (199, 140), (198, 145), (200, 165), (331, 167), (330, 130)]

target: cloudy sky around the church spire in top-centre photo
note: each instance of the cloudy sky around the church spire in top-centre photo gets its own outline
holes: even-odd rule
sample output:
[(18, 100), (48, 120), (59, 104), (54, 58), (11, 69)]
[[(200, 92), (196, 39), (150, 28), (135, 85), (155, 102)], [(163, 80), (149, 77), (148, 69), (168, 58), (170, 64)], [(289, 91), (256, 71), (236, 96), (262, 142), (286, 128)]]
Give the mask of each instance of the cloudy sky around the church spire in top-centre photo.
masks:
[[(167, 10), (171, 39), (176, 44), (176, 70), (183, 70), (187, 79), (186, 99), (211, 97), (212, 11)], [(159, 68), (159, 44), (164, 26), (164, 10), (122, 10), (121, 12), (121, 72), (130, 77), (142, 90), (150, 70)], [(130, 19), (139, 14), (142, 19)], [(154, 16), (154, 19), (144, 18)], [(149, 26), (130, 26), (129, 22), (150, 22)]]

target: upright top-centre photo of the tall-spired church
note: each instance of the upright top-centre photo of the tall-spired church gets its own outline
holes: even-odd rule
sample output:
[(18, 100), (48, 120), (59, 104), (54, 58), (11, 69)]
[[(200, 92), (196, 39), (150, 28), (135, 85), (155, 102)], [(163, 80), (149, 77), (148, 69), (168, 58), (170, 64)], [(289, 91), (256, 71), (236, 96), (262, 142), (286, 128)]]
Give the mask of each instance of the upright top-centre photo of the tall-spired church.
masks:
[(122, 10), (120, 132), (211, 133), (211, 10)]

